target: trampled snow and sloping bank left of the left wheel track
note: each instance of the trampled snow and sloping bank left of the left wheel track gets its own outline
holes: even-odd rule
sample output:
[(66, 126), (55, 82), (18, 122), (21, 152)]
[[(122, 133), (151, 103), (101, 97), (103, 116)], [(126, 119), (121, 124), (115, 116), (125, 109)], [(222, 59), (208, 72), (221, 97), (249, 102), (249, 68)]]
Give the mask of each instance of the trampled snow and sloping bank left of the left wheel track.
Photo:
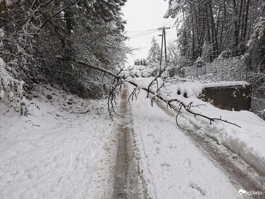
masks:
[(33, 96), (40, 110), (22, 117), (0, 101), (0, 198), (85, 198), (114, 129), (106, 102), (48, 85)]

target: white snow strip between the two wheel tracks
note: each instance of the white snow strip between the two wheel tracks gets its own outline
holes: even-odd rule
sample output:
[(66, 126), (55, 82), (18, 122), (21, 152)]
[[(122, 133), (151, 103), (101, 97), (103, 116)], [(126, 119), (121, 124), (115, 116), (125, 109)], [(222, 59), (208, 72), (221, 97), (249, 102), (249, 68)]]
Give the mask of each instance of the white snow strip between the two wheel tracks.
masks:
[[(133, 91), (129, 86), (129, 92)], [(241, 198), (227, 177), (175, 127), (146, 92), (129, 103), (140, 176), (149, 198)]]

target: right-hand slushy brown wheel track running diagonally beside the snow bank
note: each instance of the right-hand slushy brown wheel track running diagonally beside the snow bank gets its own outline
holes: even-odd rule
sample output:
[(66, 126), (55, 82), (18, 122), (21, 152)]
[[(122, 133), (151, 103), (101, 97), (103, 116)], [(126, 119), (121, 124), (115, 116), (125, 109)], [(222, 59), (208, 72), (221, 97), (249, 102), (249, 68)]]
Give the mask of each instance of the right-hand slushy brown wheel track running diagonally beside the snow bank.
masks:
[[(149, 97), (152, 99), (152, 96)], [(155, 100), (157, 103), (157, 100)], [(167, 108), (165, 103), (160, 102), (159, 107), (169, 116), (176, 117), (176, 112)], [(218, 145), (207, 133), (197, 129), (190, 121), (182, 116), (178, 116), (178, 123), (181, 127), (191, 131), (180, 129), (184, 135), (190, 138), (192, 143), (208, 158), (213, 161), (214, 165), (223, 171), (229, 181), (239, 189), (247, 191), (261, 191), (262, 195), (245, 195), (246, 198), (265, 198), (264, 181), (265, 178), (259, 174), (254, 168), (250, 167), (237, 154), (228, 152), (223, 146)], [(177, 124), (175, 124), (177, 126)], [(177, 127), (179, 128), (179, 127)]]

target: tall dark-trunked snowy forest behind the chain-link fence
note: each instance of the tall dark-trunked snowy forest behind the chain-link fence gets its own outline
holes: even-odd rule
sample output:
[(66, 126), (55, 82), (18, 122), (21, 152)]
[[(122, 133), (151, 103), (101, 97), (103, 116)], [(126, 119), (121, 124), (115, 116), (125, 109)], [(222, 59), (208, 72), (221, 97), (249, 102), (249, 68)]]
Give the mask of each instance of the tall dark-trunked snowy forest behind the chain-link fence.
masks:
[[(180, 54), (207, 62), (245, 55), (252, 65), (262, 61), (264, 1), (169, 1), (165, 17), (182, 23), (178, 33)], [(249, 48), (250, 47), (250, 48)]]

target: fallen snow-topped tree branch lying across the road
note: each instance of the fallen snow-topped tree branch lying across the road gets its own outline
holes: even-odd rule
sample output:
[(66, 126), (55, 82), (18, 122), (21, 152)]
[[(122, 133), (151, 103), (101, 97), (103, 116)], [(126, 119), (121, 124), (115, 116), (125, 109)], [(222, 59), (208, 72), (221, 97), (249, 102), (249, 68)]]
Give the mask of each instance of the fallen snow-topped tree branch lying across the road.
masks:
[[(151, 99), (151, 105), (153, 106), (153, 102), (155, 99), (157, 99), (157, 103), (159, 102), (159, 100), (162, 100), (163, 102), (167, 103), (167, 105), (172, 108), (173, 110), (177, 111), (177, 116), (176, 116), (176, 123), (177, 123), (177, 117), (179, 115), (179, 113), (181, 112), (181, 109), (184, 109), (186, 110), (187, 112), (193, 114), (195, 117), (196, 116), (201, 116), (201, 117), (204, 117), (208, 120), (210, 120), (210, 124), (212, 124), (212, 122), (216, 121), (216, 120), (220, 120), (220, 121), (223, 121), (225, 123), (229, 123), (229, 124), (232, 124), (232, 125), (235, 125), (237, 127), (240, 127), (238, 125), (236, 125), (235, 123), (231, 123), (227, 120), (224, 120), (224, 119), (221, 119), (220, 118), (211, 118), (211, 117), (208, 117), (206, 115), (203, 115), (203, 114), (200, 114), (200, 113), (196, 113), (196, 112), (193, 112), (191, 110), (192, 107), (198, 107), (198, 106), (206, 106), (204, 104), (201, 104), (201, 105), (193, 105), (193, 102), (190, 102), (188, 105), (185, 105), (184, 102), (182, 102), (181, 100), (179, 99), (170, 99), (168, 100), (168, 96), (163, 96), (160, 92), (160, 89), (164, 86), (165, 83), (169, 82), (169, 80), (165, 80), (163, 81), (163, 84), (162, 85), (159, 85), (158, 84), (158, 81), (157, 81), (157, 77), (148, 85), (148, 87), (144, 87), (143, 85), (139, 85), (134, 78), (132, 78), (129, 74), (127, 74), (126, 72), (123, 72), (125, 70), (121, 69), (117, 74), (114, 74), (112, 71), (110, 70), (106, 70), (104, 68), (100, 68), (100, 67), (97, 67), (97, 66), (92, 66), (90, 64), (87, 64), (85, 62), (82, 62), (82, 61), (76, 61), (75, 62), (76, 64), (81, 64), (85, 67), (88, 67), (88, 68), (93, 68), (95, 70), (100, 70), (102, 73), (103, 73), (103, 77), (105, 74), (108, 74), (110, 76), (113, 76), (114, 77), (114, 81), (113, 81), (113, 84), (111, 86), (111, 90), (109, 92), (109, 100), (108, 100), (108, 110), (109, 110), (109, 114), (110, 114), (110, 117), (113, 118), (113, 114), (112, 112), (114, 112), (115, 114), (117, 114), (117, 112), (115, 111), (115, 108), (117, 108), (117, 103), (116, 103), (116, 96), (119, 94), (119, 92), (121, 91), (121, 87), (123, 85), (123, 82), (128, 82), (132, 85), (135, 86), (135, 89), (134, 91), (131, 93), (131, 95), (129, 96), (129, 99), (131, 98), (133, 100), (133, 97), (135, 96), (137, 98), (137, 95), (138, 93), (140, 92), (140, 90), (145, 90), (147, 91), (147, 97), (149, 96), (149, 93), (152, 93), (154, 96), (152, 97)], [(102, 79), (103, 81), (103, 79)], [(155, 86), (154, 86), (155, 85)], [(138, 92), (138, 93), (137, 93)], [(128, 99), (128, 100), (129, 100)], [(173, 102), (177, 102), (177, 106), (174, 106), (172, 103)], [(119, 114), (117, 114), (119, 115)], [(121, 115), (119, 115), (121, 116)], [(179, 126), (179, 124), (177, 123), (177, 125)], [(179, 126), (180, 127), (180, 126)], [(180, 127), (181, 128), (181, 127)], [(182, 128), (181, 128), (182, 129)]]

